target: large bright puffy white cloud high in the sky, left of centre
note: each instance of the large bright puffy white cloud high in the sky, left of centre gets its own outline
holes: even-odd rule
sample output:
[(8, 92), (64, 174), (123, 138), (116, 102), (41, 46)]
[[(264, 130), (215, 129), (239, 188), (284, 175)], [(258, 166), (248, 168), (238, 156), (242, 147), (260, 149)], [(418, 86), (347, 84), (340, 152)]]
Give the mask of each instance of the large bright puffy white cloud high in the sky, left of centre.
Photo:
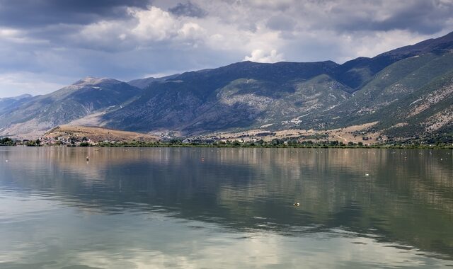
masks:
[(205, 39), (205, 29), (199, 24), (183, 21), (161, 8), (129, 8), (128, 12), (132, 20), (91, 23), (71, 38), (80, 46), (106, 51), (135, 50), (162, 42), (168, 45), (198, 43)]

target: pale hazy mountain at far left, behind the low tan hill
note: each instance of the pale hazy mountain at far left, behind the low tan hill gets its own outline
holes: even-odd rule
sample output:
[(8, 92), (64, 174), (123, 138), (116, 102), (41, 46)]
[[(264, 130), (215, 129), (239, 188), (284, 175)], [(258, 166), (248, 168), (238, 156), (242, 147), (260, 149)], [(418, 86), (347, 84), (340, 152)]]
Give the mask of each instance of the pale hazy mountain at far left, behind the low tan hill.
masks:
[(140, 93), (141, 89), (122, 81), (87, 77), (2, 113), (0, 135), (38, 134), (99, 110), (115, 109)]

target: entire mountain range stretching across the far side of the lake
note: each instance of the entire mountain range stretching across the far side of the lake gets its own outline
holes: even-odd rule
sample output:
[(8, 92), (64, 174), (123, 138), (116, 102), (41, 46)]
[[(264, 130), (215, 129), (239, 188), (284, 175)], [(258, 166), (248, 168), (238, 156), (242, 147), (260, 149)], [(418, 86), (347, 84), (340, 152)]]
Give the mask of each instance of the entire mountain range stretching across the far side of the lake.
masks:
[(377, 122), (395, 138), (453, 134), (453, 33), (344, 64), (238, 62), (129, 82), (87, 77), (42, 96), (0, 98), (0, 135), (63, 124), (180, 136)]

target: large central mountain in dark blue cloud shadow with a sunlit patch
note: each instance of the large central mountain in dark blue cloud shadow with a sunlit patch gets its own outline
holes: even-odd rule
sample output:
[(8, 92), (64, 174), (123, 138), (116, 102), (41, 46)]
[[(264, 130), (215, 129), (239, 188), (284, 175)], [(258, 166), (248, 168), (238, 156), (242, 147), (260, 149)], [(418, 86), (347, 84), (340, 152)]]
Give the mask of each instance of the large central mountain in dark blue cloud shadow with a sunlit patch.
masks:
[(140, 98), (103, 120), (109, 127), (141, 132), (196, 133), (265, 124), (268, 118), (323, 110), (348, 98), (346, 87), (325, 75), (336, 67), (331, 61), (240, 62), (187, 72), (151, 84)]

